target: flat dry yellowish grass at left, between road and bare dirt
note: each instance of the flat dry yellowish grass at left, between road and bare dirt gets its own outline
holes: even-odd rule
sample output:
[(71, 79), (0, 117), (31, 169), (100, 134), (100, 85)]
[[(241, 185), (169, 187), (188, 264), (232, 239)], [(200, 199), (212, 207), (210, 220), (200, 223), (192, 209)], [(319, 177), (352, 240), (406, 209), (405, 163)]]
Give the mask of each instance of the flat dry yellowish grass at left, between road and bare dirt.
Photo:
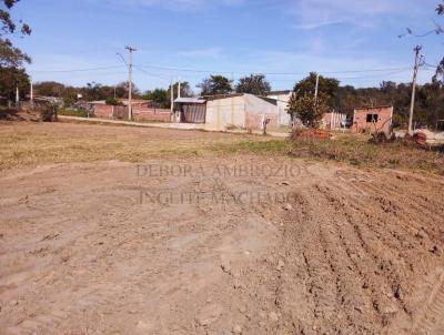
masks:
[(209, 145), (249, 136), (163, 129), (74, 123), (13, 123), (0, 126), (0, 170), (42, 163), (186, 158)]

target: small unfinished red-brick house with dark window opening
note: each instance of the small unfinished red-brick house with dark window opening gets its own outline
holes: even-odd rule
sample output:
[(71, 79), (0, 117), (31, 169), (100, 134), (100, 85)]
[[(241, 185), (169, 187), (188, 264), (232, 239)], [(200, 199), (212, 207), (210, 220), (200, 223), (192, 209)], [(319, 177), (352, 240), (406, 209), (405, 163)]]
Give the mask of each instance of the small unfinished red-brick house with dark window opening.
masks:
[(392, 132), (393, 105), (357, 108), (353, 114), (352, 132)]

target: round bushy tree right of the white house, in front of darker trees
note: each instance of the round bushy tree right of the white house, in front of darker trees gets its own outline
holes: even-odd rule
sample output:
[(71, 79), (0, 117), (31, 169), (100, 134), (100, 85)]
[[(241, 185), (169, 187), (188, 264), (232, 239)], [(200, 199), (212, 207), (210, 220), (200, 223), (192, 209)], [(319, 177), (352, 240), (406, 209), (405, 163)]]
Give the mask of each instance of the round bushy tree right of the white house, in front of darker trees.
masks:
[(289, 113), (297, 116), (306, 126), (317, 128), (329, 106), (322, 97), (315, 99), (312, 94), (302, 97), (292, 94), (289, 101)]

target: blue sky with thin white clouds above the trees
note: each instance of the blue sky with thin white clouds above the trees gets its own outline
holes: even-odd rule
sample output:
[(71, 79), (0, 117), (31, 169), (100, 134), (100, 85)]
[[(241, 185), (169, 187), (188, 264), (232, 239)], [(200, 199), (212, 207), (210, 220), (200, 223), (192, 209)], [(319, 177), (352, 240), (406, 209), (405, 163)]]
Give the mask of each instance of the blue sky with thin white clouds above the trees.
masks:
[[(271, 73), (272, 88), (280, 90), (292, 88), (309, 71), (356, 87), (411, 81), (413, 47), (421, 43), (426, 61), (437, 63), (444, 35), (397, 35), (406, 27), (424, 32), (434, 28), (433, 20), (444, 23), (434, 13), (438, 2), (21, 0), (13, 16), (33, 29), (16, 43), (32, 57), (28, 70), (34, 81), (124, 81), (127, 70), (117, 52), (127, 57), (124, 45), (130, 44), (138, 48), (134, 82), (141, 90), (167, 88), (180, 78), (199, 91), (194, 85), (211, 73), (239, 79), (251, 72)], [(95, 68), (107, 69), (51, 72)], [(400, 70), (346, 72), (370, 69)], [(422, 71), (421, 81), (431, 75)]]

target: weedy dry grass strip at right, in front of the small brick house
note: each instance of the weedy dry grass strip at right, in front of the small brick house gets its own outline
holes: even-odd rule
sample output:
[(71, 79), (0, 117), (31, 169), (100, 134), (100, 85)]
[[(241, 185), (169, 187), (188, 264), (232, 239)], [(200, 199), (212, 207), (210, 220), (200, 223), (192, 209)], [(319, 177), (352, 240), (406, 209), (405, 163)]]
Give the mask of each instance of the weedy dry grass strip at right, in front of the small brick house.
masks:
[(239, 142), (218, 144), (216, 152), (290, 155), (310, 160), (330, 160), (362, 168), (404, 169), (444, 175), (444, 154), (396, 141), (373, 144), (363, 135), (339, 134), (335, 140)]

